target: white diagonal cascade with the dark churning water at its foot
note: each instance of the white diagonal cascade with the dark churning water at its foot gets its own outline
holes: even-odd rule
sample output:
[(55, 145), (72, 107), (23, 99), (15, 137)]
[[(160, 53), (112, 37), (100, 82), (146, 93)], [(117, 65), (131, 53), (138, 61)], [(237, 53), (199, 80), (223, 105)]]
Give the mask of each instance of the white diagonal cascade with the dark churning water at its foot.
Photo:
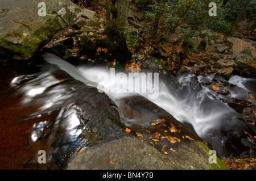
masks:
[[(104, 73), (108, 77), (112, 76), (110, 71), (105, 68), (80, 66), (77, 69), (67, 62), (60, 60), (59, 57), (47, 55), (44, 58), (49, 63), (56, 64), (59, 68), (72, 75), (72, 77), (84, 82), (88, 86), (98, 87), (98, 83), (103, 83), (105, 90), (110, 90), (111, 87), (118, 85), (121, 81), (121, 79), (110, 78), (104, 79), (104, 82), (102, 82), (102, 79), (98, 78), (99, 74)], [(135, 79), (147, 81), (147, 77), (142, 75), (138, 75)], [(232, 78), (231, 82), (234, 83), (234, 80), (236, 80), (236, 77)], [(250, 138), (242, 136), (244, 132), (255, 134), (245, 123), (245, 120), (227, 104), (218, 100), (220, 98), (217, 99), (209, 89), (201, 86), (195, 77), (185, 74), (172, 78), (172, 81), (167, 84), (160, 80), (159, 84), (155, 84), (154, 89), (157, 90), (158, 96), (151, 99), (149, 98), (148, 91), (142, 92), (140, 91), (141, 89), (129, 91), (130, 87), (134, 87), (133, 81), (126, 81), (127, 87), (123, 89), (126, 91), (105, 92), (115, 103), (120, 98), (134, 94), (144, 96), (169, 112), (177, 120), (192, 124), (196, 133), (208, 143), (210, 148), (216, 150), (221, 157), (246, 154), (244, 153), (245, 151), (240, 151), (239, 149), (241, 149), (241, 146), (248, 145), (248, 143), (253, 148), (256, 148)], [(132, 120), (123, 124), (128, 124), (130, 121)]]

